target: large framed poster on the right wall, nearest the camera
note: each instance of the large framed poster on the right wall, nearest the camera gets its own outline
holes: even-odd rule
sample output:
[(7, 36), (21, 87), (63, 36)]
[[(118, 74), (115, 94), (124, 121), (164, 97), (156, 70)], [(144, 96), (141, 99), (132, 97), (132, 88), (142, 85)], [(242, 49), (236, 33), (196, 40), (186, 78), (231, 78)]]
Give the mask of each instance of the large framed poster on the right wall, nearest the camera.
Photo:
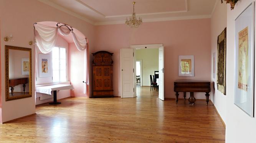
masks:
[(254, 113), (254, 2), (235, 19), (235, 101), (250, 117)]

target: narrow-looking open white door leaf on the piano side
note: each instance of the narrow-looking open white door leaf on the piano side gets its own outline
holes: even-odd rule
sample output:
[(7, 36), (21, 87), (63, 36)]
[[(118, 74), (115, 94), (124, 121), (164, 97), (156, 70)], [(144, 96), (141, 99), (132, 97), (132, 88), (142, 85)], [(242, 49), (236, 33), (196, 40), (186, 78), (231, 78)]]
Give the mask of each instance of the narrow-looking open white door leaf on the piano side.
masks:
[(159, 48), (159, 99), (164, 100), (164, 47)]

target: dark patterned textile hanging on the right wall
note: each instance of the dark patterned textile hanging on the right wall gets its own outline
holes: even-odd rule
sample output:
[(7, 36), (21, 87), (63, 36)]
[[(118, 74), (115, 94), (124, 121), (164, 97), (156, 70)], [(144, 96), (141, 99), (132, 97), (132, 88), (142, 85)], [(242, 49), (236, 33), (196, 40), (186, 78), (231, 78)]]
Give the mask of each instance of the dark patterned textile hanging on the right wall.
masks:
[(217, 42), (217, 89), (226, 95), (226, 28), (218, 36)]

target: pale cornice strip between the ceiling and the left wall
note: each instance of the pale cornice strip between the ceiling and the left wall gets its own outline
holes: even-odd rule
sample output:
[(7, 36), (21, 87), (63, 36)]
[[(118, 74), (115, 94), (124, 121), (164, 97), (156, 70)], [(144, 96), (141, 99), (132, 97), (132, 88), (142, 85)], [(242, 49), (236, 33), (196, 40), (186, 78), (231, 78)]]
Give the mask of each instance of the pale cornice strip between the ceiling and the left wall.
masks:
[(46, 5), (52, 6), (52, 7), (56, 8), (56, 9), (58, 9), (58, 10), (61, 10), (61, 11), (65, 12), (65, 13), (68, 13), (69, 15), (75, 16), (76, 18), (79, 18), (79, 19), (81, 19), (83, 21), (86, 21), (86, 22), (94, 25), (93, 21), (88, 20), (84, 16), (81, 16), (81, 15), (78, 15), (78, 14), (74, 13), (73, 11), (70, 11), (70, 10), (64, 8), (63, 6), (59, 6), (59, 5), (51, 2), (50, 0), (38, 0), (38, 1), (40, 1), (42, 3), (45, 3)]

